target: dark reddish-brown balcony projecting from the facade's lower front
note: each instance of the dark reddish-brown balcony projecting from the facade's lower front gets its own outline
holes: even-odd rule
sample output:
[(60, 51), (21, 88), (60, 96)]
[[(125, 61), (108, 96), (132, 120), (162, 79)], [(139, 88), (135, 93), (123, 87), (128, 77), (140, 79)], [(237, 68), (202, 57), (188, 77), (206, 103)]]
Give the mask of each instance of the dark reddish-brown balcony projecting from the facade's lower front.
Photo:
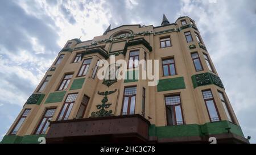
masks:
[(47, 143), (147, 143), (150, 122), (141, 115), (62, 120), (50, 123)]

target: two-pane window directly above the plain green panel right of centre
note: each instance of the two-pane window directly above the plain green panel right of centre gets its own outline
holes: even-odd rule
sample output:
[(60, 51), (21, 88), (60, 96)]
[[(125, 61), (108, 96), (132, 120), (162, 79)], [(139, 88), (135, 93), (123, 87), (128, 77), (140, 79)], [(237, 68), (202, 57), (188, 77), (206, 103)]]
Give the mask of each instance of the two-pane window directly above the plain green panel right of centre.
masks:
[(168, 59), (162, 60), (162, 64), (163, 64), (163, 75), (164, 76), (175, 76), (176, 75), (174, 58), (168, 58)]

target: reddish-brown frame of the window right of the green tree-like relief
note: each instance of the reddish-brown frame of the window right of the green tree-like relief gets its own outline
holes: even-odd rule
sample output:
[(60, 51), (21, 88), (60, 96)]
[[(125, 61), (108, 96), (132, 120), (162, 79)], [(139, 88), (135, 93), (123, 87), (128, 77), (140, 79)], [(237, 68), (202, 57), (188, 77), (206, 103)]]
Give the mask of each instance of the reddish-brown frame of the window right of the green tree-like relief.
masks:
[[(137, 92), (137, 85), (134, 86), (125, 86), (125, 88), (123, 89), (123, 101), (122, 101), (122, 109), (121, 109), (121, 116), (123, 115), (134, 115), (135, 114), (135, 110), (136, 110), (136, 99), (137, 99), (137, 94), (134, 95), (125, 95), (125, 89), (130, 88), (130, 87), (136, 87), (136, 92)], [(135, 103), (134, 103), (134, 114), (130, 113), (130, 107), (131, 107), (131, 98), (135, 96)], [(125, 105), (125, 97), (128, 97), (128, 103), (127, 103), (127, 112), (126, 114), (124, 114), (125, 112), (123, 112), (123, 106)]]

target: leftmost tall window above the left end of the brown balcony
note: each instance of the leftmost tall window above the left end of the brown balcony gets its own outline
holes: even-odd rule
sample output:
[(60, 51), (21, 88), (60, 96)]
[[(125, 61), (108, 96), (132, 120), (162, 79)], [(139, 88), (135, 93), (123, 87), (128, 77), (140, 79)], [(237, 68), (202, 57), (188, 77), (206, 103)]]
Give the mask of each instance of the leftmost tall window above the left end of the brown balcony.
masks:
[(76, 94), (68, 94), (57, 120), (67, 120), (68, 119), (68, 116), (72, 110), (73, 104), (76, 101), (76, 97), (77, 97), (77, 93)]

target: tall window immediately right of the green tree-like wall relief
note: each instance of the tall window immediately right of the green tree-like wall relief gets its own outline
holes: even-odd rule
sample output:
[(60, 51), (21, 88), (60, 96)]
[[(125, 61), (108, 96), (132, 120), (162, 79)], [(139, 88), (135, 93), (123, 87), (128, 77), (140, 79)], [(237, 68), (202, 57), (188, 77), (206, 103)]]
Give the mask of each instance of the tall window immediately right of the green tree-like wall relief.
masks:
[(133, 115), (135, 113), (136, 93), (137, 87), (125, 87), (122, 115)]

